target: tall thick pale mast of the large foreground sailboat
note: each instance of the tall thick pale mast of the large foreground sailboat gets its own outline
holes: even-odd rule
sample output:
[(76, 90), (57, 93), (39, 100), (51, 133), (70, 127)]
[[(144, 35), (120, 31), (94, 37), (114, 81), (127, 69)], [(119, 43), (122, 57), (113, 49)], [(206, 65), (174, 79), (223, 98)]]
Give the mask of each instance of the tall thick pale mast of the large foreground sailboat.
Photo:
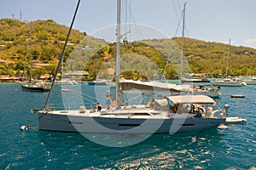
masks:
[(121, 56), (121, 47), (120, 47), (120, 15), (121, 15), (121, 0), (117, 0), (117, 27), (116, 27), (116, 65), (115, 65), (115, 74), (116, 74), (116, 104), (117, 107), (121, 105), (121, 99), (119, 96), (119, 74), (120, 74), (120, 56)]

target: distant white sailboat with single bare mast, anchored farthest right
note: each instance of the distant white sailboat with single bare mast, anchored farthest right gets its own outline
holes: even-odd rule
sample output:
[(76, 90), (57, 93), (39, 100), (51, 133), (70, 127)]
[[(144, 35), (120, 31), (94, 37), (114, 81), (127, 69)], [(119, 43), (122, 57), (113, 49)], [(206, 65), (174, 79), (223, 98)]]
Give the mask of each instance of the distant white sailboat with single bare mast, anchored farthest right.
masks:
[(218, 80), (218, 81), (213, 81), (213, 85), (217, 86), (225, 86), (225, 87), (242, 87), (246, 86), (247, 83), (244, 81), (241, 81), (237, 78), (228, 78), (228, 71), (229, 71), (229, 59), (230, 59), (230, 42), (229, 41), (229, 50), (228, 50), (228, 56), (227, 56), (227, 67), (226, 67), (226, 77), (224, 80)]

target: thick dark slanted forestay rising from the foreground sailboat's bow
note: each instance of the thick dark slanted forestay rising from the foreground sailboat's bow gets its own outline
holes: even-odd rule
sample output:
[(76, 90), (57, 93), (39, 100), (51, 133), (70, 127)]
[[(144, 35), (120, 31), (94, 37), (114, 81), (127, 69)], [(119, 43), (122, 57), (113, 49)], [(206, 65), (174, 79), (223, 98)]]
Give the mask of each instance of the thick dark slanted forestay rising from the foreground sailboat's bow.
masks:
[(65, 44), (64, 44), (64, 47), (63, 47), (62, 53), (61, 53), (61, 58), (60, 58), (60, 60), (59, 60), (58, 66), (57, 66), (57, 68), (56, 68), (55, 76), (54, 76), (53, 82), (51, 83), (51, 87), (50, 87), (50, 89), (49, 89), (49, 93), (48, 93), (47, 99), (46, 99), (45, 104), (44, 104), (44, 111), (45, 111), (46, 106), (47, 106), (47, 104), (48, 104), (49, 95), (51, 94), (51, 90), (52, 90), (52, 88), (53, 88), (53, 85), (55, 84), (56, 76), (57, 76), (57, 74), (58, 74), (58, 72), (59, 72), (59, 70), (60, 70), (60, 67), (61, 67), (61, 61), (62, 61), (62, 59), (63, 59), (63, 55), (64, 55), (64, 52), (65, 52), (65, 49), (66, 49), (66, 47), (67, 47), (67, 41), (68, 41), (68, 38), (69, 38), (70, 33), (71, 33), (71, 31), (72, 31), (73, 23), (74, 23), (74, 20), (75, 20), (75, 18), (76, 18), (77, 12), (78, 12), (78, 10), (79, 10), (79, 3), (80, 3), (80, 0), (79, 0), (78, 3), (77, 3), (77, 7), (76, 7), (76, 9), (75, 9), (75, 13), (73, 14), (73, 20), (72, 20), (72, 23), (71, 23), (71, 25), (70, 25), (70, 27), (69, 27), (69, 31), (68, 31), (68, 33), (67, 33), (66, 42), (65, 42)]

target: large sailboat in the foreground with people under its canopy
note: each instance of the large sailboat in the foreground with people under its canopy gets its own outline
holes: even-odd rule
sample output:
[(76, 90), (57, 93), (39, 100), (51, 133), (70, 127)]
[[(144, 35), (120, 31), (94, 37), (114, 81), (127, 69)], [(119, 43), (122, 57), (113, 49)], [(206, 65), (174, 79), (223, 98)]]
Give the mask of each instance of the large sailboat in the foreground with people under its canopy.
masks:
[[(56, 111), (48, 107), (49, 98), (47, 98), (44, 110), (36, 111), (38, 113), (39, 130), (79, 133), (153, 134), (201, 131), (218, 127), (218, 125), (224, 123), (224, 112), (226, 113), (228, 105), (225, 105), (222, 111), (216, 107), (216, 103), (212, 98), (205, 95), (164, 95), (151, 99), (147, 105), (122, 105), (121, 87), (119, 85), (121, 56), (120, 3), (121, 0), (117, 0), (116, 106), (110, 110), (95, 111), (94, 109), (86, 109), (84, 105), (81, 105), (76, 110)], [(70, 26), (70, 30), (72, 26), (73, 24)], [(63, 48), (64, 51), (65, 46)], [(61, 57), (63, 57), (63, 52)], [(57, 70), (59, 67), (60, 63)], [(55, 77), (52, 86), (54, 82)], [(201, 106), (204, 107), (204, 110), (197, 110)]]

